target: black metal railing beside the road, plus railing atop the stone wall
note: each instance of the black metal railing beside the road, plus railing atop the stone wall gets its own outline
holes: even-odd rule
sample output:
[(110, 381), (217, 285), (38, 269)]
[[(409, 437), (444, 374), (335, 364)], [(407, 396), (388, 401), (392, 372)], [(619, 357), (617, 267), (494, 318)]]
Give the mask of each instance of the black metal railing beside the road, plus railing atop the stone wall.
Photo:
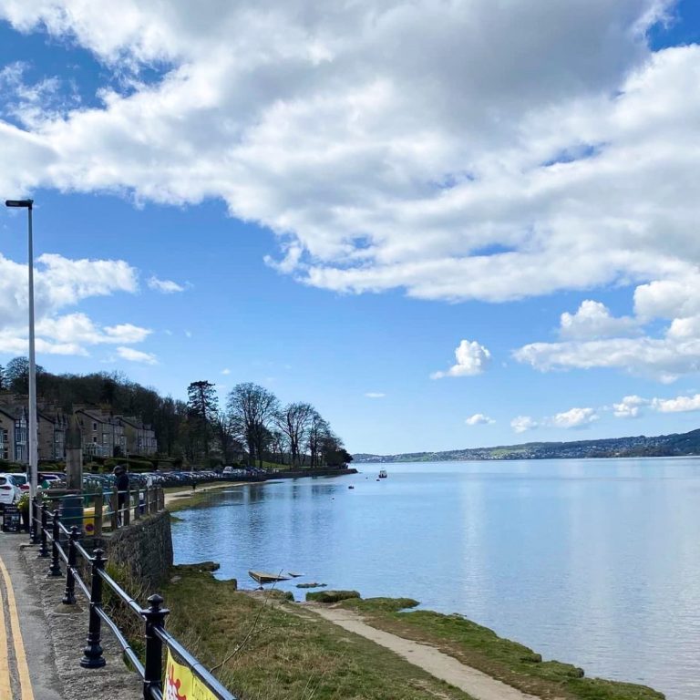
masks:
[[(134, 518), (138, 520), (145, 510), (146, 513), (156, 513), (164, 509), (164, 496), (162, 489), (151, 489), (156, 493), (149, 500), (144, 502), (140, 498), (136, 499), (136, 506), (133, 504), (133, 493), (125, 497), (125, 505), (121, 509), (111, 510), (111, 519), (120, 520), (122, 526), (129, 524), (131, 511), (134, 510)], [(118, 506), (118, 493), (112, 494)], [(97, 503), (101, 498), (97, 494)], [(143, 682), (144, 700), (163, 700), (163, 652), (169, 649), (180, 659), (180, 663), (187, 666), (191, 673), (199, 679), (202, 685), (207, 687), (218, 700), (236, 700), (221, 683), (198, 661), (175, 637), (165, 629), (165, 619), (169, 610), (162, 607), (163, 599), (159, 594), (149, 597), (149, 607), (142, 608), (139, 602), (135, 601), (128, 592), (116, 582), (108, 572), (105, 571), (107, 560), (105, 552), (96, 549), (92, 553), (88, 552), (80, 542), (80, 530), (77, 525), (72, 525), (69, 529), (61, 521), (59, 510), (49, 513), (48, 504), (39, 504), (38, 499), (31, 502), (31, 538), (32, 542), (39, 544), (38, 556), (50, 558), (47, 575), (49, 577), (62, 577), (61, 562), (66, 568), (66, 587), (63, 593), (62, 602), (65, 605), (76, 603), (76, 591), (81, 593), (89, 602), (88, 638), (83, 656), (79, 664), (83, 668), (101, 668), (107, 662), (102, 650), (102, 624), (106, 624), (111, 633), (117, 639), (122, 652), (129, 660), (129, 664), (136, 670)], [(98, 505), (95, 506), (95, 530), (98, 531)], [(100, 519), (104, 516), (100, 512)], [(114, 522), (115, 520), (112, 520)], [(100, 527), (101, 527), (100, 523)], [(115, 528), (116, 530), (117, 528)], [(101, 533), (101, 529), (99, 530)], [(49, 551), (50, 545), (50, 551)], [(78, 566), (78, 557), (89, 567), (89, 586), (81, 575)], [(88, 578), (86, 576), (86, 578)], [(117, 598), (123, 602), (129, 612), (137, 615), (144, 622), (145, 626), (145, 654), (141, 661), (139, 654), (132, 649), (129, 640), (115, 622), (103, 608), (103, 591), (107, 585)]]

